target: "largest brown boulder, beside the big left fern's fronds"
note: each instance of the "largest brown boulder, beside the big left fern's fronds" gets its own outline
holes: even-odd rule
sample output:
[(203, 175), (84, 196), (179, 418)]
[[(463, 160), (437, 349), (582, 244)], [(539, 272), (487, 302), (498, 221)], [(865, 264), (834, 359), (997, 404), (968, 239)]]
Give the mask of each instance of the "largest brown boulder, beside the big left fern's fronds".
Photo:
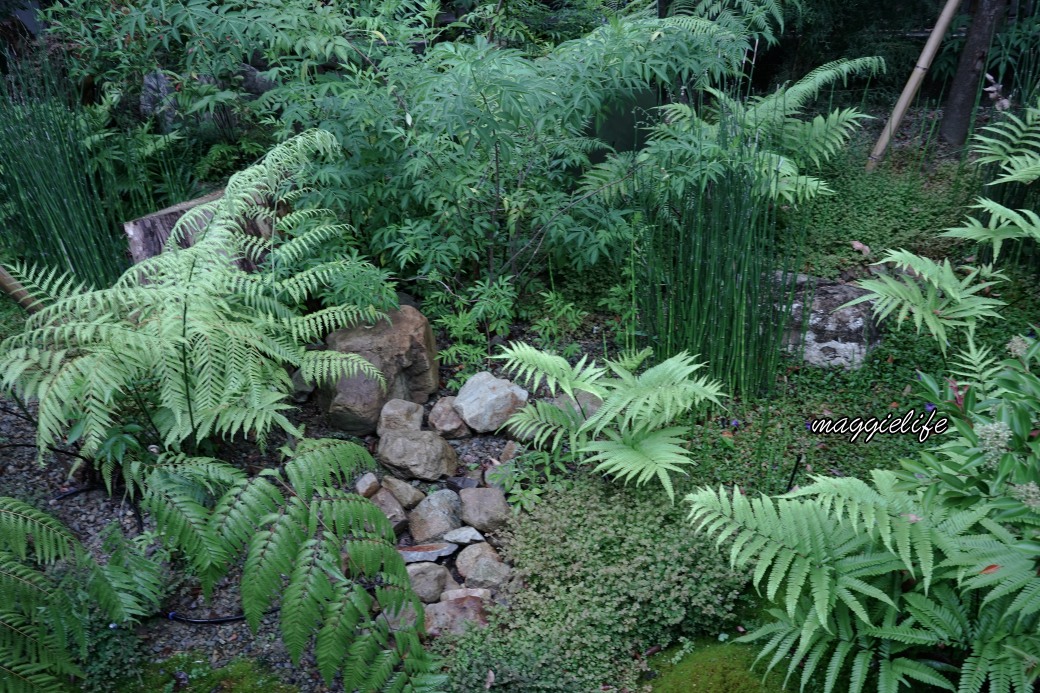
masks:
[(389, 318), (337, 330), (326, 340), (330, 350), (367, 359), (386, 379), (385, 390), (364, 375), (321, 388), (321, 405), (330, 422), (347, 433), (373, 433), (390, 400), (423, 404), (438, 389), (437, 348), (430, 322), (411, 306), (390, 311)]

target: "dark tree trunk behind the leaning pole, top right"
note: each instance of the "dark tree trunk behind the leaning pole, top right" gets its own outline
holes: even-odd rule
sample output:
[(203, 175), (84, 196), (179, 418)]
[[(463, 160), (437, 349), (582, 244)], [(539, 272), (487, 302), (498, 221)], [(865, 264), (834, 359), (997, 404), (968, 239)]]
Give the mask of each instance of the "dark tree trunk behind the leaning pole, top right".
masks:
[(986, 53), (1007, 9), (1008, 0), (979, 0), (939, 125), (939, 134), (951, 145), (960, 146), (967, 139)]

